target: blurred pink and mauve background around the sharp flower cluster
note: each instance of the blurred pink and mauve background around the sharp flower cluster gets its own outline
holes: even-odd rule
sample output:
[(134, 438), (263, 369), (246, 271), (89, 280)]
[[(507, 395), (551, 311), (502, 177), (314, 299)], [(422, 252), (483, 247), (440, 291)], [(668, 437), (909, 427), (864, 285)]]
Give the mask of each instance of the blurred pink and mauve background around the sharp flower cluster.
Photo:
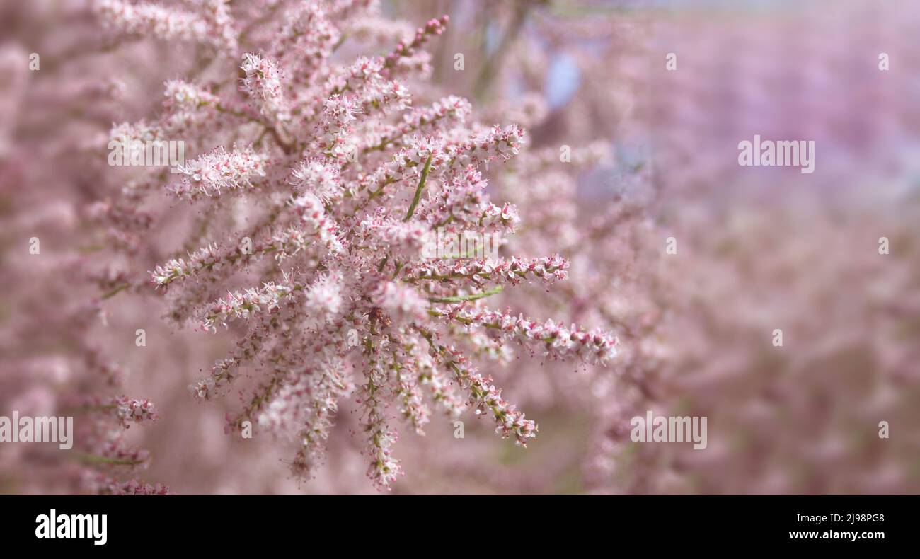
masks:
[[(155, 110), (163, 82), (202, 54), (112, 42), (91, 4), (0, 6), (0, 415), (50, 415), (95, 386), (87, 375), (123, 370), (124, 392), (159, 410), (128, 433), (149, 451), (146, 480), (180, 494), (374, 493), (347, 406), (327, 466), (298, 485), (283, 441), (224, 434), (234, 398), (188, 394), (229, 337), (178, 330), (149, 294), (101, 297), (126, 261), (99, 246), (131, 246), (143, 273), (180, 225), (165, 212), (136, 239), (98, 219), (111, 211), (109, 129)], [(920, 491), (920, 7), (402, 0), (375, 17), (411, 31), (443, 14), (431, 79), (414, 91), (467, 97), (479, 120), (527, 128), (527, 153), (495, 171), (492, 195), (519, 207), (519, 252), (572, 261), (564, 289), (502, 302), (614, 329), (623, 351), (605, 368), (527, 355), (483, 366), (540, 436), (522, 450), (472, 416), (464, 439), (434, 421), (400, 437), (395, 492)], [(387, 50), (360, 39), (336, 56)], [(754, 134), (813, 140), (815, 172), (739, 166)], [(647, 410), (707, 416), (707, 449), (632, 442), (629, 419)], [(82, 492), (84, 470), (42, 445), (0, 443), (0, 493)]]

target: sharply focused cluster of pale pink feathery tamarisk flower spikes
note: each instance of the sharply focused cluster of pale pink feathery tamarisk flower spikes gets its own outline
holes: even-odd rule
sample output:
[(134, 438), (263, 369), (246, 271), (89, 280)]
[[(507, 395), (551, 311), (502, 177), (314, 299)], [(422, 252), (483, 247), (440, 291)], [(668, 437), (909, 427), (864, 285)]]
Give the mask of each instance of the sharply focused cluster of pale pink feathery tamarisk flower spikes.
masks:
[[(418, 103), (409, 89), (431, 72), (422, 47), (448, 17), (383, 56), (339, 63), (342, 29), (373, 13), (359, 9), (366, 3), (276, 3), (271, 32), (247, 37), (239, 29), (254, 11), (192, 4), (185, 12), (103, 0), (98, 15), (115, 33), (205, 43), (219, 66), (201, 71), (206, 80), (168, 81), (162, 108), (110, 134), (186, 146), (175, 173), (139, 172), (113, 203), (167, 197), (195, 212), (174, 256), (147, 279), (176, 325), (235, 334), (224, 359), (191, 384), (193, 397), (223, 397), (251, 376), (226, 430), (248, 421), (290, 437), (298, 478), (316, 473), (346, 398), (360, 407), (356, 436), (380, 489), (402, 473), (395, 419), (421, 434), (431, 405), (448, 417), (488, 416), (502, 438), (525, 446), (535, 421), (466, 348), (485, 340), (604, 364), (617, 339), (486, 305), (522, 282), (566, 280), (565, 257), (421, 256), (438, 228), (506, 239), (523, 221), (512, 204), (491, 200), (482, 175), (525, 148), (523, 128), (472, 120), (461, 97)], [(137, 279), (124, 284), (145, 289)]]

